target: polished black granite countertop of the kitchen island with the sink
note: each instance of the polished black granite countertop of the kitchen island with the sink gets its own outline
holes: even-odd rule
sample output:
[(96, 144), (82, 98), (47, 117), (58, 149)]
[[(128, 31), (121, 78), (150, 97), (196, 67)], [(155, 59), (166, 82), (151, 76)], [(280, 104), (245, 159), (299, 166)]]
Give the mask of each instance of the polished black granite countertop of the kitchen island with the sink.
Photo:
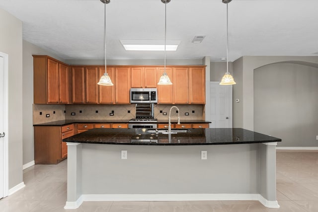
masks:
[[(148, 130), (154, 131), (154, 129)], [(281, 141), (275, 137), (241, 128), (188, 129), (189, 133), (172, 135), (149, 133), (148, 130), (92, 129), (63, 141), (125, 145), (216, 145)]]

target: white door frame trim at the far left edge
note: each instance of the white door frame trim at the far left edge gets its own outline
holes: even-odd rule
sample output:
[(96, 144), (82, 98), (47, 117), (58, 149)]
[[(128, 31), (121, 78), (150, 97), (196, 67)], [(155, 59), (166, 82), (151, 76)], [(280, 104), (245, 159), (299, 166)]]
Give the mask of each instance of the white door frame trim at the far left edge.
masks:
[(0, 57), (3, 58), (3, 198), (9, 193), (9, 117), (8, 117), (8, 82), (9, 82), (9, 56), (0, 52)]

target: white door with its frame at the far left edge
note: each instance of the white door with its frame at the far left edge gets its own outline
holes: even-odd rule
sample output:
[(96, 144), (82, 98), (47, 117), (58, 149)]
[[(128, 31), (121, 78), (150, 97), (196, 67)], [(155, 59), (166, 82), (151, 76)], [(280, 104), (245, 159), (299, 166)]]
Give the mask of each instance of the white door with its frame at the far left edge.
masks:
[(0, 199), (8, 195), (7, 64), (7, 55), (0, 52)]

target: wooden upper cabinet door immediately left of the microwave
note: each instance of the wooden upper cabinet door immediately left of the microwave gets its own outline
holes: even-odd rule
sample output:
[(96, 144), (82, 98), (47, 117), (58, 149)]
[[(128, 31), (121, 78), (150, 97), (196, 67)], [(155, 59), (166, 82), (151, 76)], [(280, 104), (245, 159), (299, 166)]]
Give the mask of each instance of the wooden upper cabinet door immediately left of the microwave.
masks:
[(115, 68), (115, 100), (117, 104), (129, 104), (129, 92), (131, 85), (130, 68)]

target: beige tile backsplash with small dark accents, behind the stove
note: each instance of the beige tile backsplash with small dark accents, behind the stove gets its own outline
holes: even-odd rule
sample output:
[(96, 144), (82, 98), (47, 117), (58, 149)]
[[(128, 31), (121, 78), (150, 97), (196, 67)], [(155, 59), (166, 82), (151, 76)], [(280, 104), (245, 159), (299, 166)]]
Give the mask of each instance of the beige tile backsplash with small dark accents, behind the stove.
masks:
[[(155, 118), (168, 120), (172, 105), (155, 104)], [(176, 105), (180, 110), (180, 119), (202, 120), (204, 105)], [(53, 113), (55, 111), (55, 114)], [(65, 111), (65, 113), (64, 113)], [(128, 105), (33, 105), (33, 124), (70, 120), (130, 120), (135, 118), (135, 104)], [(162, 113), (160, 113), (162, 111)], [(171, 118), (177, 117), (175, 109), (171, 111)], [(42, 115), (40, 115), (42, 112)], [(194, 112), (194, 113), (193, 113)], [(71, 115), (75, 113), (75, 115)], [(110, 116), (113, 113), (113, 116)], [(167, 115), (163, 115), (167, 113)], [(189, 113), (188, 116), (185, 113)], [(50, 114), (47, 118), (46, 114)]]

